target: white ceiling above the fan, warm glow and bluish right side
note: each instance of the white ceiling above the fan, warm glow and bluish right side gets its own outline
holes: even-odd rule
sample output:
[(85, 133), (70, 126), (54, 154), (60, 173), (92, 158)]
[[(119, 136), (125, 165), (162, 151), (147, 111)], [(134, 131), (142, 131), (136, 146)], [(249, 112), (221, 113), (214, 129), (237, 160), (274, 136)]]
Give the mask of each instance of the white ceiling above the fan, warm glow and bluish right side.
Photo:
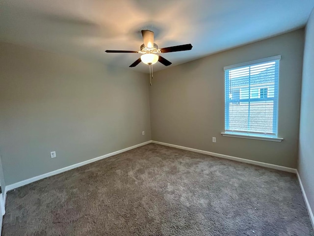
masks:
[[(128, 68), (140, 30), (159, 48), (191, 43), (162, 56), (177, 65), (305, 26), (314, 0), (1, 0), (0, 40)], [(157, 63), (154, 71), (167, 68)], [(147, 73), (140, 63), (130, 70)]]

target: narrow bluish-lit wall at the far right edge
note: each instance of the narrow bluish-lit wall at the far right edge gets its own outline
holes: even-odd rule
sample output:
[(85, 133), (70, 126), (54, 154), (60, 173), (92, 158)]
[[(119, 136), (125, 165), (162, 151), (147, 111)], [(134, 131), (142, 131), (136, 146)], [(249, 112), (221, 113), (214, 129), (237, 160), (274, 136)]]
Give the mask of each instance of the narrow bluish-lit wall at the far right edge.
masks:
[(314, 9), (305, 33), (298, 171), (314, 211)]

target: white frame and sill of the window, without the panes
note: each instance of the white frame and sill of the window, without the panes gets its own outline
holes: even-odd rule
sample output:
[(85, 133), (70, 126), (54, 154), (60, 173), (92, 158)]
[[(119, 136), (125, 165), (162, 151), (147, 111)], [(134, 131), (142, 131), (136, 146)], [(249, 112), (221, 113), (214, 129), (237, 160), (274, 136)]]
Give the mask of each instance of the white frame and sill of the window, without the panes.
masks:
[[(274, 56), (274, 57), (269, 57), (269, 58), (264, 58), (264, 59), (258, 59), (258, 60), (253, 60), (253, 61), (248, 61), (240, 64), (235, 64), (235, 65), (230, 65), (230, 66), (225, 66), (224, 71), (225, 71), (225, 84), (224, 84), (224, 89), (225, 89), (225, 131), (222, 132), (221, 134), (223, 136), (228, 136), (228, 137), (238, 137), (238, 138), (250, 138), (250, 139), (261, 139), (261, 140), (270, 140), (270, 141), (276, 141), (276, 142), (281, 142), (283, 139), (278, 138), (278, 98), (279, 98), (279, 67), (280, 67), (280, 59), (281, 56)], [(274, 83), (274, 91), (277, 91), (277, 96), (274, 97), (269, 97), (268, 95), (268, 90), (269, 88), (266, 86), (259, 87), (258, 89), (258, 98), (251, 98), (251, 94), (249, 94), (248, 99), (239, 99), (239, 102), (245, 102), (250, 101), (273, 101), (274, 104), (274, 109), (273, 109), (273, 127), (272, 127), (272, 133), (262, 133), (262, 132), (250, 132), (250, 131), (240, 131), (240, 130), (230, 130), (230, 124), (229, 124), (229, 104), (231, 101), (227, 101), (226, 94), (230, 92), (232, 88), (229, 88), (229, 86), (226, 85), (227, 78), (229, 81), (229, 70), (231, 69), (239, 69), (241, 67), (250, 67), (254, 65), (258, 65), (261, 63), (267, 63), (267, 62), (273, 62), (276, 61), (275, 66), (276, 71), (278, 71), (278, 78), (276, 79), (276, 82)], [(278, 63), (277, 63), (278, 62)], [(257, 86), (258, 87), (258, 86)], [(264, 98), (261, 98), (261, 89), (267, 89), (266, 96)], [(240, 94), (241, 94), (241, 89), (239, 89)], [(241, 97), (241, 95), (240, 95)]]

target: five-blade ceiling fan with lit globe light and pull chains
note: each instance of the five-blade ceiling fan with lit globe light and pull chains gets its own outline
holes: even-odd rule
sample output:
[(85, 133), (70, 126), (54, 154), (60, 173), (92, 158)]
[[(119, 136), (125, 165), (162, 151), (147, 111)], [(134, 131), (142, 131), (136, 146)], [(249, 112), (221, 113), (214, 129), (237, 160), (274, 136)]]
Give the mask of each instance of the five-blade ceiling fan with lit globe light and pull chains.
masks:
[(153, 78), (153, 64), (159, 61), (161, 64), (168, 66), (171, 65), (172, 62), (169, 60), (157, 55), (159, 53), (172, 53), (179, 51), (187, 51), (192, 49), (191, 44), (183, 44), (178, 46), (172, 46), (167, 48), (158, 49), (158, 45), (154, 43), (154, 32), (151, 30), (142, 30), (142, 36), (144, 43), (140, 46), (140, 51), (125, 51), (125, 50), (106, 50), (106, 53), (140, 53), (142, 56), (135, 60), (129, 67), (134, 67), (138, 65), (141, 61), (145, 64), (149, 65), (150, 68), (150, 79), (152, 85)]

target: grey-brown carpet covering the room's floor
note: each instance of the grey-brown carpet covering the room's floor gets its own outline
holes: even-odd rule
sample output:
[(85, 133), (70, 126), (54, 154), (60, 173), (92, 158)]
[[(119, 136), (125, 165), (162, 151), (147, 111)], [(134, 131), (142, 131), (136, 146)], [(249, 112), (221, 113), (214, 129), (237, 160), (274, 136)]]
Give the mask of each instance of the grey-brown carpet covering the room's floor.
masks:
[(9, 192), (2, 236), (314, 236), (294, 174), (149, 144)]

